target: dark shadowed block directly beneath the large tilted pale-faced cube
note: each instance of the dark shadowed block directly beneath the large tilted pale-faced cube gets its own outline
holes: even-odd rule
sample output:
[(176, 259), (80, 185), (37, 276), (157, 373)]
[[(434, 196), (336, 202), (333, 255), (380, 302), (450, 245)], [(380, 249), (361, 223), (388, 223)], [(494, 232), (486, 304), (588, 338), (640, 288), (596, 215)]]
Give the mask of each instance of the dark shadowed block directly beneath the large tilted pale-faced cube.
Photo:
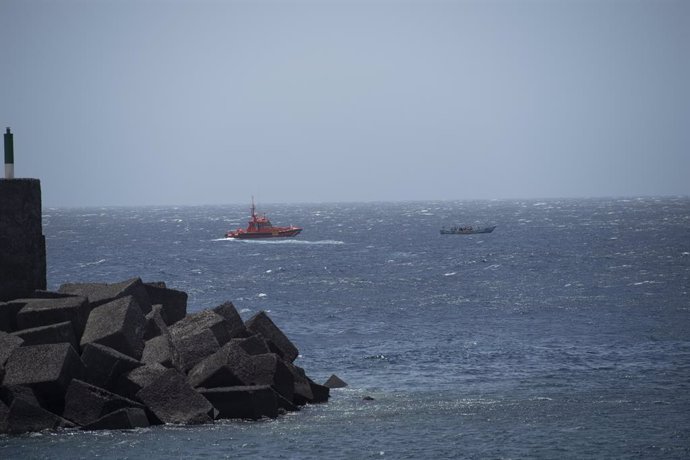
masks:
[(84, 363), (84, 380), (97, 387), (114, 391), (120, 376), (141, 366), (136, 359), (98, 343), (84, 345), (81, 354)]

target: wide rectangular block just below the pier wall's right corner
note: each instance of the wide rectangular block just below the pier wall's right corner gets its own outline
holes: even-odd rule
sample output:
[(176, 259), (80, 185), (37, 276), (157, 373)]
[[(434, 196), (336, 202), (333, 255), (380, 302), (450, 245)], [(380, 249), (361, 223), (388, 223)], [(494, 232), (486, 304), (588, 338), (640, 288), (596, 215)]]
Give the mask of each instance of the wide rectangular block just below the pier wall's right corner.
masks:
[(18, 302), (23, 302), (24, 306), (17, 313), (17, 330), (69, 321), (77, 338), (84, 332), (91, 310), (85, 297), (21, 299)]

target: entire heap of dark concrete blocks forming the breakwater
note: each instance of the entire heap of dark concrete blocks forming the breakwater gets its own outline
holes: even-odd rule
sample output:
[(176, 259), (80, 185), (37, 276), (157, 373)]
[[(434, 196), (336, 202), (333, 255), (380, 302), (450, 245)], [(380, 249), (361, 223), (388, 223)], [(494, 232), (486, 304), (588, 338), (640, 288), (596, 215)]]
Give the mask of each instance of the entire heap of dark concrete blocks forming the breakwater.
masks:
[(187, 315), (185, 293), (139, 278), (36, 295), (0, 303), (0, 433), (277, 417), (328, 399), (264, 312)]

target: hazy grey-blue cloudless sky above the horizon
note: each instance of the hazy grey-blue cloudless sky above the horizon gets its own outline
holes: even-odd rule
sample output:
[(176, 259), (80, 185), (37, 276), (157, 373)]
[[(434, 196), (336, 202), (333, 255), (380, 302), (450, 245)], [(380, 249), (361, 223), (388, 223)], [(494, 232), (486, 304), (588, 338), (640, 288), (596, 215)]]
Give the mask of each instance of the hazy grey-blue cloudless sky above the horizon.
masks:
[(55, 206), (690, 195), (687, 0), (0, 0)]

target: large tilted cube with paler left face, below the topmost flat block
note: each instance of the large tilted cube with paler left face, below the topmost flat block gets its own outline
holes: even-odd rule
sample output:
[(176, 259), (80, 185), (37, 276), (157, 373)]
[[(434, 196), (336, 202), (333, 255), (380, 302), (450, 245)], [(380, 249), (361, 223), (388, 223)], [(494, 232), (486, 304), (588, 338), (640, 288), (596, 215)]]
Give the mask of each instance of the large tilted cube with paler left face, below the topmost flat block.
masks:
[(144, 351), (144, 327), (144, 315), (134, 297), (121, 297), (91, 311), (81, 345), (100, 343), (139, 359)]

